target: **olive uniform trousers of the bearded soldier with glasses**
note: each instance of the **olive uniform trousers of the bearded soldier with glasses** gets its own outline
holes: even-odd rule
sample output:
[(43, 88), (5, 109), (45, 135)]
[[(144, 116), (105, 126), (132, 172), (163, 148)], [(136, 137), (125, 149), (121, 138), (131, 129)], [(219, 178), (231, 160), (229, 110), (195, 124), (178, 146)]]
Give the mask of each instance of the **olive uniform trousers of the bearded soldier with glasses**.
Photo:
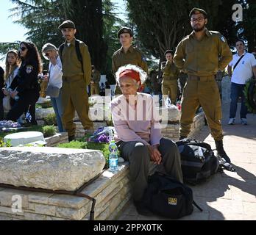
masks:
[(215, 76), (188, 76), (182, 95), (182, 112), (180, 117), (180, 136), (188, 137), (193, 117), (199, 105), (205, 112), (208, 126), (214, 140), (223, 140), (221, 127), (221, 99)]

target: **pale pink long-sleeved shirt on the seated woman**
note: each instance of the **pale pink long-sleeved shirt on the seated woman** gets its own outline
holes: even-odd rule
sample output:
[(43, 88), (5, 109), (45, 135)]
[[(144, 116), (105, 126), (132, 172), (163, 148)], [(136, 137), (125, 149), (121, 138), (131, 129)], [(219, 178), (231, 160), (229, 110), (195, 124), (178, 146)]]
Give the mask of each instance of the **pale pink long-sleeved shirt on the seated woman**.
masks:
[(160, 144), (160, 118), (151, 95), (138, 93), (137, 106), (128, 103), (124, 95), (119, 95), (110, 105), (119, 140), (138, 141), (144, 145)]

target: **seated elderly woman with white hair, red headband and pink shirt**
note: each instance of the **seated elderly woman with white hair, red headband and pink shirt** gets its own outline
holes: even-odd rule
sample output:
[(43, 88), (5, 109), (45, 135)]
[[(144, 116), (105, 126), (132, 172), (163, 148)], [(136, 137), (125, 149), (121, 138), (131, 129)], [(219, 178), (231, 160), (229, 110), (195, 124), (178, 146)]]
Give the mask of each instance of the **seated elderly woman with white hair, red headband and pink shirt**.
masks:
[(159, 171), (182, 182), (179, 151), (173, 141), (161, 135), (152, 96), (137, 92), (146, 73), (135, 65), (126, 65), (115, 75), (122, 92), (111, 102), (112, 119), (120, 140), (118, 146), (121, 156), (130, 164), (132, 196), (137, 211), (147, 214), (142, 197), (149, 175)]

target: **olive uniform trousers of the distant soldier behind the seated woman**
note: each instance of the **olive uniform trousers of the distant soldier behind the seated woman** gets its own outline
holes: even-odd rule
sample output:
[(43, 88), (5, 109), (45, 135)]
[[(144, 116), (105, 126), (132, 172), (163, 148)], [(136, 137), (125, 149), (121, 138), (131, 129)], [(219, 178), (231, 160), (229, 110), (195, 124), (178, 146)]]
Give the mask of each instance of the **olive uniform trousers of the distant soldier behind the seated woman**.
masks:
[(171, 104), (176, 104), (178, 90), (178, 81), (175, 79), (165, 79), (162, 82), (162, 93), (163, 95), (170, 95)]

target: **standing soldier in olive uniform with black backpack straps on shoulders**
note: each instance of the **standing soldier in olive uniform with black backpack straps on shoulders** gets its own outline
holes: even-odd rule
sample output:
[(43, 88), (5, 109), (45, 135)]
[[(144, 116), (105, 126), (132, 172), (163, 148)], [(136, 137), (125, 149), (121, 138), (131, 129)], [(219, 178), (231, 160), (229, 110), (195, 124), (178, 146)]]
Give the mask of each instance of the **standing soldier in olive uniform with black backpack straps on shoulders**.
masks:
[[(77, 30), (72, 21), (64, 21), (59, 26), (65, 43), (60, 46), (60, 58), (63, 62), (63, 125), (68, 131), (68, 140), (74, 140), (76, 124), (74, 123), (75, 110), (85, 132), (93, 130), (93, 122), (88, 117), (89, 104), (86, 87), (90, 84), (91, 63), (88, 46), (74, 37)], [(79, 61), (76, 50), (79, 43), (79, 51), (82, 62)]]

